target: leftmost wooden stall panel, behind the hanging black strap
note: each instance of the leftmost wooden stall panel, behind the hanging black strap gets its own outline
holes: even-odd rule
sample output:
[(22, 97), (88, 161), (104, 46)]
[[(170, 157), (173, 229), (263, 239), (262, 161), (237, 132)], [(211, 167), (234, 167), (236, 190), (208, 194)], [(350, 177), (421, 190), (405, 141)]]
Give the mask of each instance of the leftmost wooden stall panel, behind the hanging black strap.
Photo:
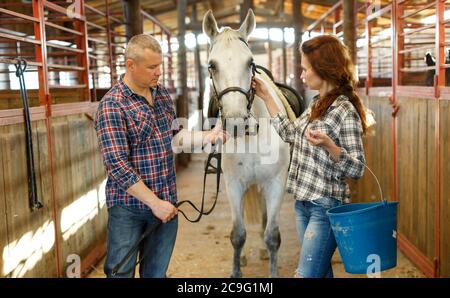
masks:
[(56, 276), (51, 176), (44, 121), (33, 122), (36, 184), (42, 209), (28, 199), (24, 124), (0, 126), (0, 277)]

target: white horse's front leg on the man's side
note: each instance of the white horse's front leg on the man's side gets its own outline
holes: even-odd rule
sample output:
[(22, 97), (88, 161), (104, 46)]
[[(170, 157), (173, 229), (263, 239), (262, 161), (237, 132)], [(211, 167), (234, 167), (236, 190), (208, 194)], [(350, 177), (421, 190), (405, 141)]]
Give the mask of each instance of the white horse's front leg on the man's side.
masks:
[(246, 239), (246, 231), (244, 226), (244, 186), (238, 181), (230, 181), (226, 183), (228, 201), (231, 206), (231, 219), (233, 228), (231, 230), (230, 240), (234, 248), (233, 254), (233, 272), (231, 277), (241, 277), (241, 252)]

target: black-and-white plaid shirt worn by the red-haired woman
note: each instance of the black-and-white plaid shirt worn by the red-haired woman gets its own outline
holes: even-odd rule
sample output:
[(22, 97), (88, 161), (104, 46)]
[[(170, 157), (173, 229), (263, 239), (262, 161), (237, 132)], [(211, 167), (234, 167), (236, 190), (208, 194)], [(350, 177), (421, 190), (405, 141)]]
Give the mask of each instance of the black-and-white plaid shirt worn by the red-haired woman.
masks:
[[(310, 121), (311, 107), (290, 122), (283, 113), (272, 118), (281, 138), (293, 144), (287, 191), (297, 200), (316, 200), (332, 197), (347, 201), (350, 197), (346, 177), (358, 179), (364, 174), (364, 148), (361, 119), (349, 99), (341, 95), (321, 119)], [(341, 148), (339, 160), (333, 161), (325, 149), (312, 146), (305, 136), (307, 128), (327, 134)]]

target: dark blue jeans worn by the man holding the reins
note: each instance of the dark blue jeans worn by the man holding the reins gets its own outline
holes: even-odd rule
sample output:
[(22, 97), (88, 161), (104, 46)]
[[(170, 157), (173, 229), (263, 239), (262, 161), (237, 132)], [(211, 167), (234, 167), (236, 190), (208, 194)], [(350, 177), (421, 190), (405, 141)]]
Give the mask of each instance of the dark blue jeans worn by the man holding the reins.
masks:
[(108, 209), (108, 241), (104, 269), (107, 277), (134, 277), (138, 251), (130, 256), (116, 276), (112, 276), (112, 270), (147, 228), (153, 231), (142, 241), (139, 250), (139, 255), (146, 252), (139, 266), (139, 274), (141, 277), (166, 276), (175, 246), (178, 217), (163, 224), (148, 210), (116, 205)]

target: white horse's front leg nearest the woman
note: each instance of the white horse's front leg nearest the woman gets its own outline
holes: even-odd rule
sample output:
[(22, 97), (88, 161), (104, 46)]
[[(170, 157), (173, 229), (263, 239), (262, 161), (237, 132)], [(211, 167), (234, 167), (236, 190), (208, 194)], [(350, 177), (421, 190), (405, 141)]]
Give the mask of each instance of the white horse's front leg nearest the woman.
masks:
[(264, 242), (269, 250), (271, 277), (278, 276), (277, 254), (281, 244), (278, 215), (280, 213), (285, 188), (285, 183), (281, 182), (282, 179), (279, 179), (280, 177), (277, 178), (265, 184), (262, 190), (267, 209), (267, 225), (264, 231)]

